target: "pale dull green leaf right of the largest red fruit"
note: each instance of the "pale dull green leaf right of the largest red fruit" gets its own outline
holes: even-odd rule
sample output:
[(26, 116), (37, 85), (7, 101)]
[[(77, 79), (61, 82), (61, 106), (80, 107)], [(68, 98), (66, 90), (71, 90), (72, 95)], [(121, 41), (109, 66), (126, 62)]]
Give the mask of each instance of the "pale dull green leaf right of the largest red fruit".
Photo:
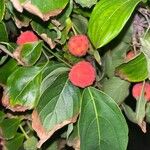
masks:
[(130, 83), (125, 80), (112, 77), (104, 80), (102, 90), (114, 99), (116, 103), (121, 104), (129, 95), (129, 85)]

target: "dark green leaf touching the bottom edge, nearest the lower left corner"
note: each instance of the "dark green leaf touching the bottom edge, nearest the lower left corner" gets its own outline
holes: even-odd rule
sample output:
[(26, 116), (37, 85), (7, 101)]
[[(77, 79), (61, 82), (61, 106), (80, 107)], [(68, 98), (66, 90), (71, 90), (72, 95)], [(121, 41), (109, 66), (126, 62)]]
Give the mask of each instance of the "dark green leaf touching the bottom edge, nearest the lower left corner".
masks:
[(19, 148), (22, 146), (23, 140), (24, 140), (24, 135), (17, 133), (13, 139), (6, 141), (4, 145), (4, 149), (5, 150), (19, 150)]

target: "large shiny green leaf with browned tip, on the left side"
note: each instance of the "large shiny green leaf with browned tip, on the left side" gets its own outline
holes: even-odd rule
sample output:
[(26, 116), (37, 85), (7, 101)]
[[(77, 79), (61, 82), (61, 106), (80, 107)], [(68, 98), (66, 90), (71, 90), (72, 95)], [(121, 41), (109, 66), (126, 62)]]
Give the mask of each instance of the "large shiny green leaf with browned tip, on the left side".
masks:
[[(19, 67), (9, 76), (5, 90), (6, 96), (9, 97), (8, 108), (13, 111), (34, 108), (40, 96), (42, 71), (45, 66)], [(5, 100), (5, 97), (3, 99)]]

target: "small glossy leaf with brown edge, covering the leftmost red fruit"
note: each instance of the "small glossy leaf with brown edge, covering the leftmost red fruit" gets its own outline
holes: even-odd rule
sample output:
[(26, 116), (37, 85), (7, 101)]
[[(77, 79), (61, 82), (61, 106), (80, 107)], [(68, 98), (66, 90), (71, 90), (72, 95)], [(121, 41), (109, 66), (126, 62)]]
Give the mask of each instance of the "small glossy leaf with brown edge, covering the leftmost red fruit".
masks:
[(27, 43), (19, 47), (19, 59), (25, 66), (34, 65), (41, 56), (42, 41)]

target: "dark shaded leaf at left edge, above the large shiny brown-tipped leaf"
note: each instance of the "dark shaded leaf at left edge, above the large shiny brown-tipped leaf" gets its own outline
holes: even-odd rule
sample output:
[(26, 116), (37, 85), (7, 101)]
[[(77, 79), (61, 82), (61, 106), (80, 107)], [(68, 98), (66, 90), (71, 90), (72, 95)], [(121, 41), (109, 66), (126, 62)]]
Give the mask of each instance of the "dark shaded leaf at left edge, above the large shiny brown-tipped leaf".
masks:
[(17, 66), (17, 62), (14, 59), (10, 59), (0, 67), (0, 84), (6, 85), (7, 78), (15, 71)]

